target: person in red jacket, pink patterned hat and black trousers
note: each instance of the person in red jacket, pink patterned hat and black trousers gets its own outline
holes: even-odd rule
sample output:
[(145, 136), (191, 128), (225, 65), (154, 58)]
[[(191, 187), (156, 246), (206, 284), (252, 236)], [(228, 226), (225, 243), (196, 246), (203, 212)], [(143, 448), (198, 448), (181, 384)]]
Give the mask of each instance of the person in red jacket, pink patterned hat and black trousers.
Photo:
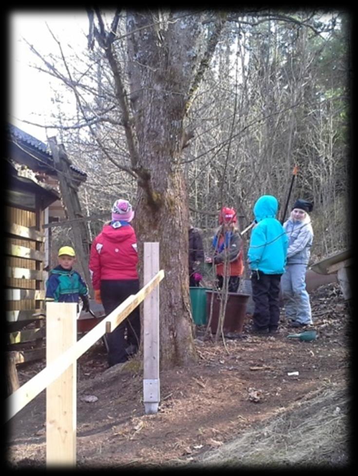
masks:
[[(97, 302), (102, 302), (106, 315), (128, 296), (139, 291), (137, 240), (130, 224), (133, 217), (134, 211), (128, 200), (116, 200), (111, 222), (103, 226), (92, 243), (90, 271), (94, 297)], [(138, 350), (139, 339), (140, 316), (137, 307), (107, 336), (109, 365), (126, 362), (129, 354)]]

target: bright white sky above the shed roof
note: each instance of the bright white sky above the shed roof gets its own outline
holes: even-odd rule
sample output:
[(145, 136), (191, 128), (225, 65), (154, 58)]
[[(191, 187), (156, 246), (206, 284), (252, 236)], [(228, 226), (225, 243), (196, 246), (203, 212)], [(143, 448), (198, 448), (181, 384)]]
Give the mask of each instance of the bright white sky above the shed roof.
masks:
[[(59, 53), (57, 43), (52, 38), (46, 22), (61, 41), (62, 47), (67, 43), (75, 49), (86, 49), (87, 39), (84, 33), (88, 33), (88, 18), (83, 11), (48, 12), (34, 10), (13, 11), (9, 21), (9, 117), (8, 120), (23, 131), (35, 136), (37, 139), (46, 141), (46, 130), (37, 126), (21, 122), (28, 120), (38, 124), (52, 123), (49, 115), (55, 105), (51, 101), (53, 92), (50, 83), (58, 87), (58, 82), (51, 79), (46, 73), (37, 71), (29, 65), (41, 64), (23, 41), (32, 44), (39, 53), (46, 55), (53, 52)], [(75, 103), (74, 97), (69, 100)], [(49, 135), (56, 135), (56, 130), (48, 131)]]

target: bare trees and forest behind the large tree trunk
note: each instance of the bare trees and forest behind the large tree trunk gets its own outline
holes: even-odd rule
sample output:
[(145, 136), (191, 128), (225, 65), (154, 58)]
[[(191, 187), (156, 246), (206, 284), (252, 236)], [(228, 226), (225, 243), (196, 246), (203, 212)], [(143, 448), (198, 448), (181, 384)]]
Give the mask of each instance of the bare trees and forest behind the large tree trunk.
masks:
[[(191, 14), (203, 21), (202, 13)], [(207, 36), (217, 14), (205, 14)], [(106, 12), (104, 21), (106, 16), (111, 19)], [(319, 259), (349, 241), (350, 19), (346, 12), (322, 11), (290, 14), (297, 22), (280, 19), (277, 12), (272, 17), (236, 13), (235, 21), (226, 21), (185, 118), (180, 165), (191, 221), (203, 230), (207, 252), (221, 206), (237, 209), (246, 226), (256, 199), (267, 193), (279, 199), (282, 213), (297, 165), (291, 202), (302, 197), (315, 204), (312, 254)], [(160, 35), (163, 13), (153, 12), (151, 19)], [(114, 45), (128, 88), (125, 23), (123, 15)], [(49, 40), (54, 40), (50, 32)], [(56, 40), (42, 71), (75, 95), (77, 114), (67, 115), (66, 96), (58, 88), (53, 120), (42, 125), (56, 127), (57, 141), (88, 174), (79, 189), (86, 215), (108, 213), (119, 196), (135, 207), (138, 177), (103, 50), (95, 45), (64, 56), (61, 44), (68, 39)], [(41, 56), (40, 46), (33, 49)], [(91, 238), (103, 221), (88, 221)], [(68, 228), (54, 228), (53, 236), (62, 243)]]

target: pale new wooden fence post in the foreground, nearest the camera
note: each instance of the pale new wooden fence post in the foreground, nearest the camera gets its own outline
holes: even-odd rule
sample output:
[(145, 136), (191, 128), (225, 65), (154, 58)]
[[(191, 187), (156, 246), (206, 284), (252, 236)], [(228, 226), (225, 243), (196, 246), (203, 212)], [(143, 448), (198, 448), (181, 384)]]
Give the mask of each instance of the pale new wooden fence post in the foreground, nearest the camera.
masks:
[[(46, 303), (46, 365), (77, 340), (77, 304)], [(46, 465), (76, 464), (76, 362), (46, 390)]]

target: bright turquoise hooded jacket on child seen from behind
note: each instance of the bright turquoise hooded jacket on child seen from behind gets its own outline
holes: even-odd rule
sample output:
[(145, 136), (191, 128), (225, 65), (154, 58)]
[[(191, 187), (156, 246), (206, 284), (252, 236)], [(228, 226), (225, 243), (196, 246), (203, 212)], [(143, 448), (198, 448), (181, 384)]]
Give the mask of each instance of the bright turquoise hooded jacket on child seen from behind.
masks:
[(261, 196), (254, 206), (257, 225), (251, 232), (247, 256), (250, 268), (264, 274), (283, 274), (285, 271), (288, 239), (275, 218), (278, 208), (277, 198), (272, 195)]

